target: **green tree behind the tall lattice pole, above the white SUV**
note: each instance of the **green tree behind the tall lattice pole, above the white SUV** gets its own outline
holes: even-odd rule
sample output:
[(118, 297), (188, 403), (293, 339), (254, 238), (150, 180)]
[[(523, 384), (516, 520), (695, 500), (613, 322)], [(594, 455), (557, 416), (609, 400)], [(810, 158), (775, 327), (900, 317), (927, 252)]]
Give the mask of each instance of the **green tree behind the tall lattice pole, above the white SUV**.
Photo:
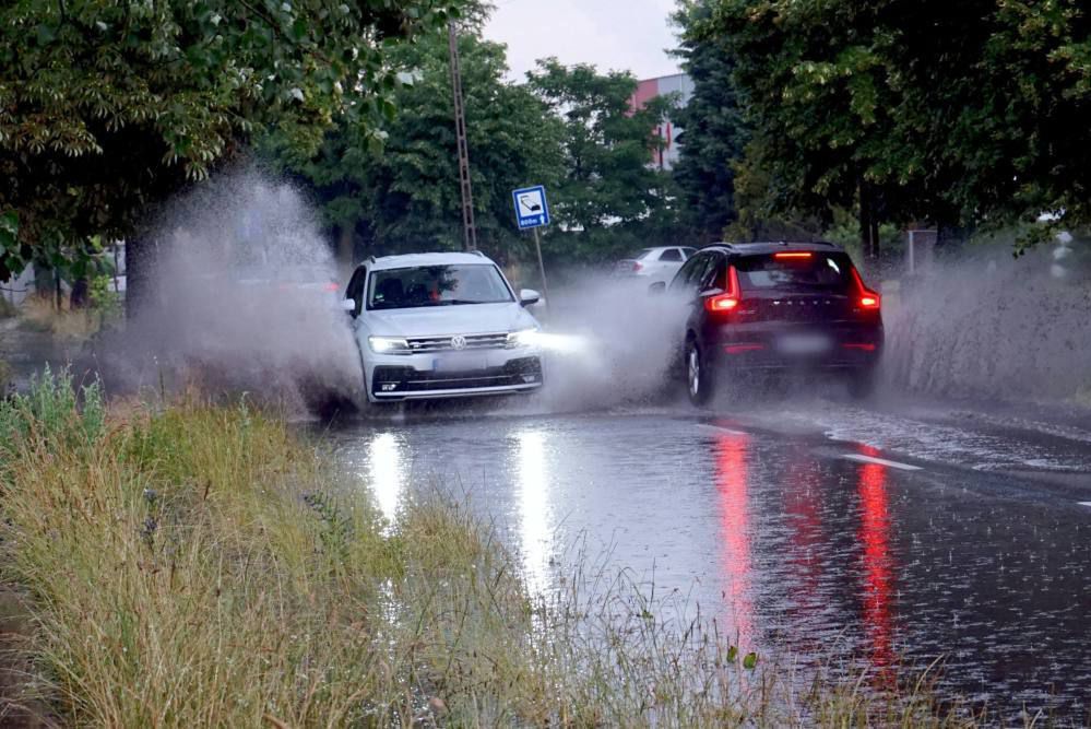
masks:
[[(561, 175), (560, 121), (525, 85), (505, 81), (503, 46), (459, 40), (474, 212), (482, 247), (505, 258), (522, 245), (511, 190)], [(406, 45), (390, 57), (402, 72), (400, 114), (381, 127), (381, 149), (340, 124), (320, 154), (300, 160), (272, 149), (313, 186), (328, 222), (356, 233), (373, 252), (461, 249), (453, 101), (447, 36)]]

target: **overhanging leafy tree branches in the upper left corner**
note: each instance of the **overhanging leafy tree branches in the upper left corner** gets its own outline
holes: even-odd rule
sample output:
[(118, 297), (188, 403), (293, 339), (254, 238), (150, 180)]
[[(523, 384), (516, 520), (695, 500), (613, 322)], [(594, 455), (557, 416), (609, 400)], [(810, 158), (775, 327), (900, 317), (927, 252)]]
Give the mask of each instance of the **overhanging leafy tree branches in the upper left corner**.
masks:
[[(313, 148), (391, 114), (391, 48), (458, 0), (17, 0), (0, 10), (0, 279), (85, 259), (257, 126)], [(134, 282), (133, 282), (134, 283)]]

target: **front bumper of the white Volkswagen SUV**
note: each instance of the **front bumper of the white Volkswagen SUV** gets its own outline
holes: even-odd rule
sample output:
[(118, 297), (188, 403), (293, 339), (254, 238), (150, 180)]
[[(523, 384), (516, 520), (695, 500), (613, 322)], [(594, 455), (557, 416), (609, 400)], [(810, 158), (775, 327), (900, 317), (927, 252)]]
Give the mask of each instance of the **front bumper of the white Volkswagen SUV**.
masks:
[(537, 352), (515, 351), (507, 357), (494, 352), (484, 364), (441, 369), (424, 355), (382, 357), (368, 367), (368, 398), (383, 402), (515, 395), (537, 390), (544, 381)]

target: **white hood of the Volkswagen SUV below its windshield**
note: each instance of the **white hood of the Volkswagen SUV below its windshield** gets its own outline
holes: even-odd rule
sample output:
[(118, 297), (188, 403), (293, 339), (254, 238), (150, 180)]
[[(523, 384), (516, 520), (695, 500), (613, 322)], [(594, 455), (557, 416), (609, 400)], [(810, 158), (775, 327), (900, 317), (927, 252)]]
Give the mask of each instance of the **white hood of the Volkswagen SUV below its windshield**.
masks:
[(444, 337), (519, 331), (537, 326), (526, 309), (510, 304), (461, 304), (368, 311), (367, 328), (380, 337)]

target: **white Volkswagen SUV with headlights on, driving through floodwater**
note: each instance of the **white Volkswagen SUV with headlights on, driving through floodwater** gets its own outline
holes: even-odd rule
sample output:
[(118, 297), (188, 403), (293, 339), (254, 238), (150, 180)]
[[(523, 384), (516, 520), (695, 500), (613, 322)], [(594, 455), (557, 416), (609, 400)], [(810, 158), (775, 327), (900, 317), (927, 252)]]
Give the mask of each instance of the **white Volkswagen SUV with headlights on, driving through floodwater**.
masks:
[(414, 254), (356, 268), (354, 319), (370, 402), (530, 392), (542, 387), (538, 322), (479, 254)]

